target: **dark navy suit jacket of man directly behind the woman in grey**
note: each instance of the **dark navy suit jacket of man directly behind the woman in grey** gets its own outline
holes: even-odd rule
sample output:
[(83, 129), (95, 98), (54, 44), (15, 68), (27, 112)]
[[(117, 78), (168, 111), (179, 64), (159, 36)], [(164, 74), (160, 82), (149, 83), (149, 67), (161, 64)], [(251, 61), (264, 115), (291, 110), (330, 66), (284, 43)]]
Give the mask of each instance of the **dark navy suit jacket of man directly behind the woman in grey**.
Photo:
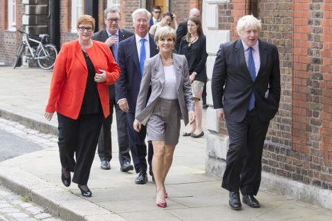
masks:
[[(150, 57), (158, 53), (154, 35), (149, 34)], [(140, 62), (135, 35), (121, 41), (118, 49), (118, 64), (121, 74), (116, 81), (116, 102), (127, 99), (129, 113), (135, 113), (137, 96), (140, 92)]]

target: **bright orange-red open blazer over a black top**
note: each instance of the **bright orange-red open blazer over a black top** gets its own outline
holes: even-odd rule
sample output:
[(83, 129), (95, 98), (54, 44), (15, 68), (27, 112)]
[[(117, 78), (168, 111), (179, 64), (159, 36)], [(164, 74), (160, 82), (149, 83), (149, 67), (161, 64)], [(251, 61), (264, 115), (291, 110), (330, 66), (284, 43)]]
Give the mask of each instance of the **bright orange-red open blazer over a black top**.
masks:
[[(100, 103), (104, 117), (109, 115), (109, 84), (114, 84), (120, 76), (120, 68), (113, 58), (107, 44), (93, 41), (93, 46), (86, 50), (95, 73), (106, 70), (106, 82), (97, 83)], [(88, 69), (78, 40), (62, 45), (55, 59), (53, 77), (50, 83), (50, 96), (46, 112), (57, 111), (66, 117), (77, 119), (84, 97)]]

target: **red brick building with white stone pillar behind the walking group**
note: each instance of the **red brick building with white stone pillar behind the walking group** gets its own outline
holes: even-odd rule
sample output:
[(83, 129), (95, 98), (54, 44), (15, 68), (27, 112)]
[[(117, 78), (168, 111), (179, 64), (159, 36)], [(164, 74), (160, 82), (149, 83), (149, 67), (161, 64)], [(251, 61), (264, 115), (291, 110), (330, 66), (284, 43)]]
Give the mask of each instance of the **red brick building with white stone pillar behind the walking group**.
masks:
[[(176, 13), (178, 23), (190, 8), (203, 12), (203, 28), (212, 67), (219, 44), (237, 39), (237, 20), (253, 14), (262, 22), (261, 39), (279, 50), (282, 97), (279, 112), (270, 123), (264, 148), (263, 169), (272, 181), (271, 191), (292, 195), (291, 187), (282, 189), (278, 177), (299, 188), (314, 188), (316, 195), (332, 202), (332, 1), (331, 0), (0, 0), (0, 61), (10, 65), (21, 35), (16, 28), (48, 32), (53, 44), (77, 38), (75, 19), (81, 13), (93, 15), (98, 29), (104, 28), (103, 10), (117, 6), (122, 28), (132, 28), (131, 12), (136, 8), (151, 11), (154, 5)], [(55, 4), (55, 5), (54, 5)], [(23, 26), (25, 25), (25, 26)], [(37, 27), (37, 28), (35, 28)], [(34, 29), (35, 28), (35, 29)], [(221, 175), (228, 137), (224, 122), (216, 119), (208, 83), (207, 125), (210, 131), (206, 170)], [(277, 177), (277, 178), (271, 178)], [(275, 179), (275, 180), (273, 180)], [(279, 179), (279, 180), (280, 180)], [(279, 186), (274, 186), (279, 185)], [(273, 186), (275, 187), (273, 189)], [(269, 189), (268, 186), (265, 186)], [(289, 191), (293, 191), (292, 193)], [(319, 192), (319, 193), (318, 193)], [(313, 195), (297, 191), (302, 198)], [(293, 195), (294, 196), (294, 195)], [(295, 196), (296, 197), (296, 196)], [(301, 196), (299, 197), (301, 198)], [(317, 196), (313, 197), (317, 198)], [(315, 201), (316, 203), (317, 200)], [(330, 208), (331, 209), (331, 208)]]

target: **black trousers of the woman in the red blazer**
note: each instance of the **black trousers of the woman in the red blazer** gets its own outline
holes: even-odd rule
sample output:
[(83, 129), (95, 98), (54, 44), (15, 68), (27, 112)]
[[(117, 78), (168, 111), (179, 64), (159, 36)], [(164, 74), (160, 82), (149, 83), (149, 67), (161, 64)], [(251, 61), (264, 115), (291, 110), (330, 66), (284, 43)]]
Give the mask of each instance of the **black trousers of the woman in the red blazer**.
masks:
[(74, 172), (73, 182), (77, 184), (89, 180), (103, 118), (102, 113), (79, 115), (77, 119), (57, 113), (61, 165)]

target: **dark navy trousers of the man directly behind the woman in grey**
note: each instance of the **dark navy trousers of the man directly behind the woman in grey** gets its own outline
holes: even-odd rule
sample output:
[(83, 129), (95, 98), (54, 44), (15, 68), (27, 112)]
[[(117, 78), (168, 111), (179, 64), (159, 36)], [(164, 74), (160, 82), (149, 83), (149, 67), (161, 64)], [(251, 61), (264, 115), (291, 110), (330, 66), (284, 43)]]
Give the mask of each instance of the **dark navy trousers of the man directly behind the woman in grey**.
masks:
[[(148, 143), (148, 155), (147, 145), (145, 145), (145, 137), (147, 135), (147, 128), (142, 126), (140, 133), (137, 133), (133, 129), (133, 121), (135, 119), (135, 113), (127, 113), (127, 126), (129, 134), (129, 144), (131, 157), (133, 157), (133, 166), (136, 173), (147, 172), (147, 161), (149, 163), (149, 173), (152, 175), (152, 157), (154, 155), (154, 148), (151, 143)], [(147, 160), (146, 158), (147, 157)]]

